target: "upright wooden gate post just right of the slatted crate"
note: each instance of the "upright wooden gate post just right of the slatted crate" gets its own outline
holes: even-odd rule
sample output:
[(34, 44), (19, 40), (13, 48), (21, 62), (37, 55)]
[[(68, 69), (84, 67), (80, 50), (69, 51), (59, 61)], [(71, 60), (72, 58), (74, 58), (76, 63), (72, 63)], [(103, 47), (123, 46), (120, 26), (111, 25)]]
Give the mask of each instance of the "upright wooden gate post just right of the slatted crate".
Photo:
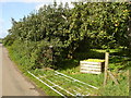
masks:
[(107, 83), (107, 70), (108, 70), (108, 62), (109, 62), (109, 52), (105, 53), (105, 77), (104, 77), (104, 86)]

